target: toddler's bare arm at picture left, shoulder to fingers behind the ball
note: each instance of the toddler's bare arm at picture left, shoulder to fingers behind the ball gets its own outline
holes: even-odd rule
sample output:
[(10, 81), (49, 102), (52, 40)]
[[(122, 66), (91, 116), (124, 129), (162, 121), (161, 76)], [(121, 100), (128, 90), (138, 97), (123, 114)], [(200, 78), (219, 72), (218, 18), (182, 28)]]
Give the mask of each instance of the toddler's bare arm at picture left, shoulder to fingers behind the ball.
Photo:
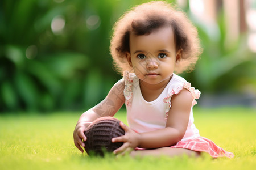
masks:
[(114, 116), (114, 114), (117, 113), (117, 111), (125, 103), (125, 97), (123, 96), (124, 88), (124, 80), (120, 80), (119, 82), (115, 83), (109, 91), (109, 94), (103, 101), (101, 101), (101, 103), (97, 104), (96, 106), (81, 115), (81, 117), (77, 121), (73, 133), (75, 146), (81, 152), (84, 152), (82, 147), (85, 147), (83, 141), (86, 141), (86, 137), (84, 135), (86, 128), (99, 117)]

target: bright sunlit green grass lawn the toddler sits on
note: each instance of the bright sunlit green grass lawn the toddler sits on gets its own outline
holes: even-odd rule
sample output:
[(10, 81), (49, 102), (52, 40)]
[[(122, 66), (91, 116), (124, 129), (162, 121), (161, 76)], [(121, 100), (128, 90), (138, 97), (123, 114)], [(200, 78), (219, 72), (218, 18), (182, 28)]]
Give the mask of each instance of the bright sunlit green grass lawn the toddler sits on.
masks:
[[(234, 153), (233, 159), (89, 158), (73, 145), (81, 113), (0, 115), (0, 169), (254, 169), (256, 111), (246, 108), (195, 109), (195, 124), (204, 137)], [(124, 112), (117, 118), (125, 121)]]

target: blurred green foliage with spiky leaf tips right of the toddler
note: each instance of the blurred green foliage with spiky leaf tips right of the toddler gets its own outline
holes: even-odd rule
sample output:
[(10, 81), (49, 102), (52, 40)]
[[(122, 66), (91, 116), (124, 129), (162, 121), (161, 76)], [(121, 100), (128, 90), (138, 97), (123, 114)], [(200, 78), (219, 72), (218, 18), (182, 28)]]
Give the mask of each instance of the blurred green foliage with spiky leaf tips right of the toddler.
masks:
[[(187, 9), (187, 13), (190, 14)], [(190, 17), (195, 23), (203, 53), (192, 73), (183, 74), (193, 86), (208, 94), (256, 94), (256, 54), (247, 46), (248, 32), (227, 41), (224, 11), (218, 12), (216, 25)], [(209, 30), (210, 29), (210, 30)], [(211, 33), (209, 33), (211, 32)]]

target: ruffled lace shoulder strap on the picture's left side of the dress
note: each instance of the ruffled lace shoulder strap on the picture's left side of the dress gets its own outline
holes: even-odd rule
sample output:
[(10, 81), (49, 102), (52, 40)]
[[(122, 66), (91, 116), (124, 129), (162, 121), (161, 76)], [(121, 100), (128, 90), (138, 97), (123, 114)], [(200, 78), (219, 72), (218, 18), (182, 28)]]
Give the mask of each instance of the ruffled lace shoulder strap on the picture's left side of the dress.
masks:
[(133, 98), (133, 82), (135, 76), (136, 75), (134, 73), (130, 73), (129, 71), (123, 72), (123, 79), (125, 80), (123, 95), (125, 96), (127, 106), (131, 105), (131, 100)]

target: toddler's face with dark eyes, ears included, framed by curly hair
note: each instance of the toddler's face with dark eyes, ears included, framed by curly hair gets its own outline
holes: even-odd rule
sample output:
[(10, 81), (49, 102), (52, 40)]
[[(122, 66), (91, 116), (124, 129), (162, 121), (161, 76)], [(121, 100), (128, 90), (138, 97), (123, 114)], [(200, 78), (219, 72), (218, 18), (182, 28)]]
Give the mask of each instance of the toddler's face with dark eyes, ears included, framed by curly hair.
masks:
[(127, 59), (137, 77), (148, 84), (168, 83), (181, 58), (176, 52), (174, 33), (170, 27), (156, 29), (150, 35), (130, 35)]

